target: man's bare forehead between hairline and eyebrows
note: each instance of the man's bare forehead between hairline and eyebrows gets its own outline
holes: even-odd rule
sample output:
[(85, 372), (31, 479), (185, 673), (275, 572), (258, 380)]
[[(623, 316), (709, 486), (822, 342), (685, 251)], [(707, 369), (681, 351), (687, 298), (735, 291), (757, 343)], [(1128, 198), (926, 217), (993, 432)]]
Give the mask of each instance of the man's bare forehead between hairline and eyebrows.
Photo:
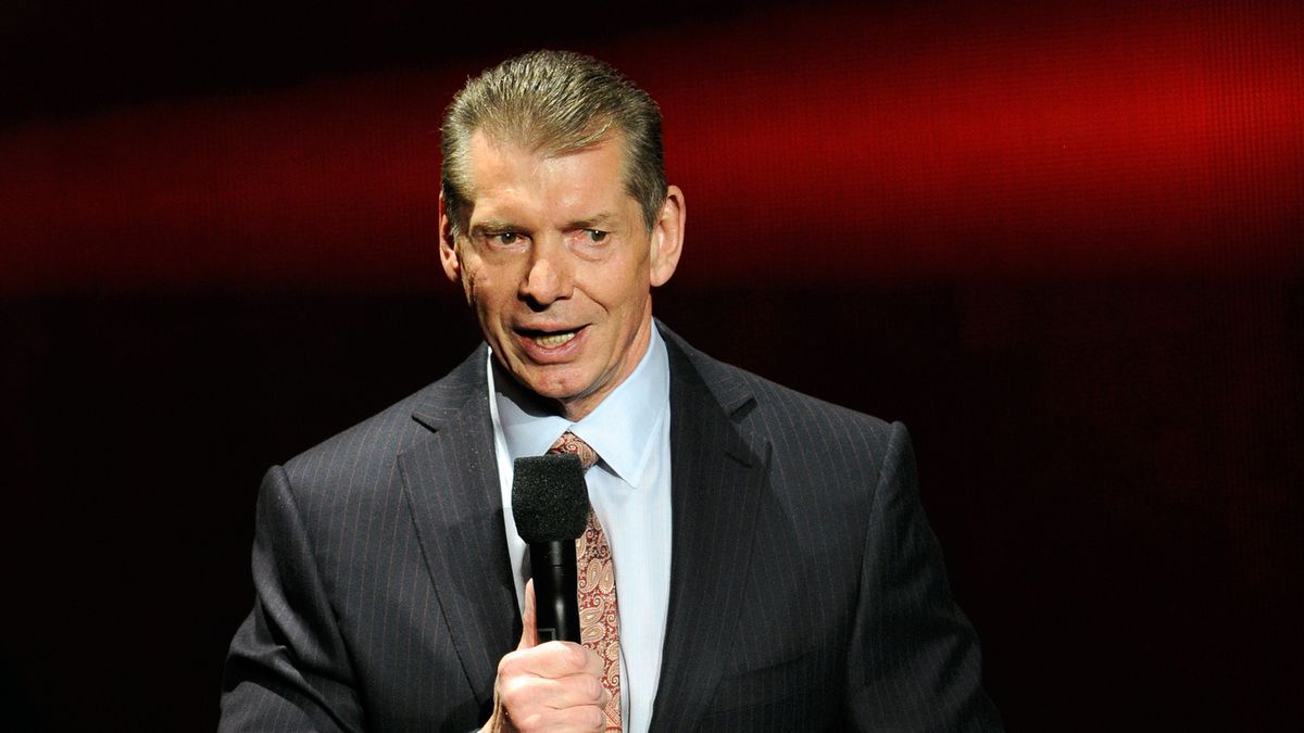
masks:
[(638, 207), (625, 187), (619, 138), (556, 154), (476, 132), (467, 163), (472, 220), (527, 215), (574, 220)]

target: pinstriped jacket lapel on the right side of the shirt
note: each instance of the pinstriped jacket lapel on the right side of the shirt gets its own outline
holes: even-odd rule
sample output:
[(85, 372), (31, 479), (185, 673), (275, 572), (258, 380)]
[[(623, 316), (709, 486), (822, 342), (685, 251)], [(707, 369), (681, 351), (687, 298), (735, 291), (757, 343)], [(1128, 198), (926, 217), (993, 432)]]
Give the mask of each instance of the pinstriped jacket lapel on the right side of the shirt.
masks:
[(662, 330), (670, 353), (672, 569), (653, 730), (690, 730), (737, 639), (769, 445), (734, 417), (755, 404), (737, 377), (708, 383), (707, 364)]

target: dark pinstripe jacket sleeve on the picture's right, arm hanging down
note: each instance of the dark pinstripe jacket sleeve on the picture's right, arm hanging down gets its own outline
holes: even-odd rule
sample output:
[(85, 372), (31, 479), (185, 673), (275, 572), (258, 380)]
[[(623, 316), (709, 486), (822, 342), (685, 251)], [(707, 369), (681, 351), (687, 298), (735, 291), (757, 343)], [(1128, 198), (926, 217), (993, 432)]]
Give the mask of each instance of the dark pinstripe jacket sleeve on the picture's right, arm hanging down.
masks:
[(919, 503), (914, 451), (892, 426), (870, 510), (852, 634), (848, 711), (857, 730), (1000, 730), (978, 639), (951, 597)]

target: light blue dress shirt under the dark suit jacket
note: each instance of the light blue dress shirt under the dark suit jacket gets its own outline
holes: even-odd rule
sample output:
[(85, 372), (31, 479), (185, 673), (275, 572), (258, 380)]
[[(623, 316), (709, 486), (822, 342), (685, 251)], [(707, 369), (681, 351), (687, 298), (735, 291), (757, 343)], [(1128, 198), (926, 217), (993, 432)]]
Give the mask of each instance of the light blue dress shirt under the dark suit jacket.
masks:
[(502, 484), (516, 603), (523, 605), (527, 549), (511, 513), (512, 460), (542, 455), (566, 430), (597, 451), (588, 497), (612, 546), (621, 620), (621, 716), (626, 732), (652, 720), (670, 600), (670, 361), (656, 327), (647, 353), (584, 419), (540, 408), (490, 355), (489, 411)]

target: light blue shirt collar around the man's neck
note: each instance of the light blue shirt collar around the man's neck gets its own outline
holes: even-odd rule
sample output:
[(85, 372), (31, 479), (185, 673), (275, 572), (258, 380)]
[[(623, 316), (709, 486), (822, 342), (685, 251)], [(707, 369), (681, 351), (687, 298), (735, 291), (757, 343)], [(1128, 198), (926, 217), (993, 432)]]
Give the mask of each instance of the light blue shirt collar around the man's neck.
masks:
[(539, 400), (489, 356), (489, 394), (498, 407), (507, 454), (542, 455), (566, 430), (574, 432), (601, 456), (606, 467), (631, 486), (652, 454), (652, 428), (670, 404), (670, 360), (656, 326), (647, 353), (634, 372), (578, 423), (544, 411)]

